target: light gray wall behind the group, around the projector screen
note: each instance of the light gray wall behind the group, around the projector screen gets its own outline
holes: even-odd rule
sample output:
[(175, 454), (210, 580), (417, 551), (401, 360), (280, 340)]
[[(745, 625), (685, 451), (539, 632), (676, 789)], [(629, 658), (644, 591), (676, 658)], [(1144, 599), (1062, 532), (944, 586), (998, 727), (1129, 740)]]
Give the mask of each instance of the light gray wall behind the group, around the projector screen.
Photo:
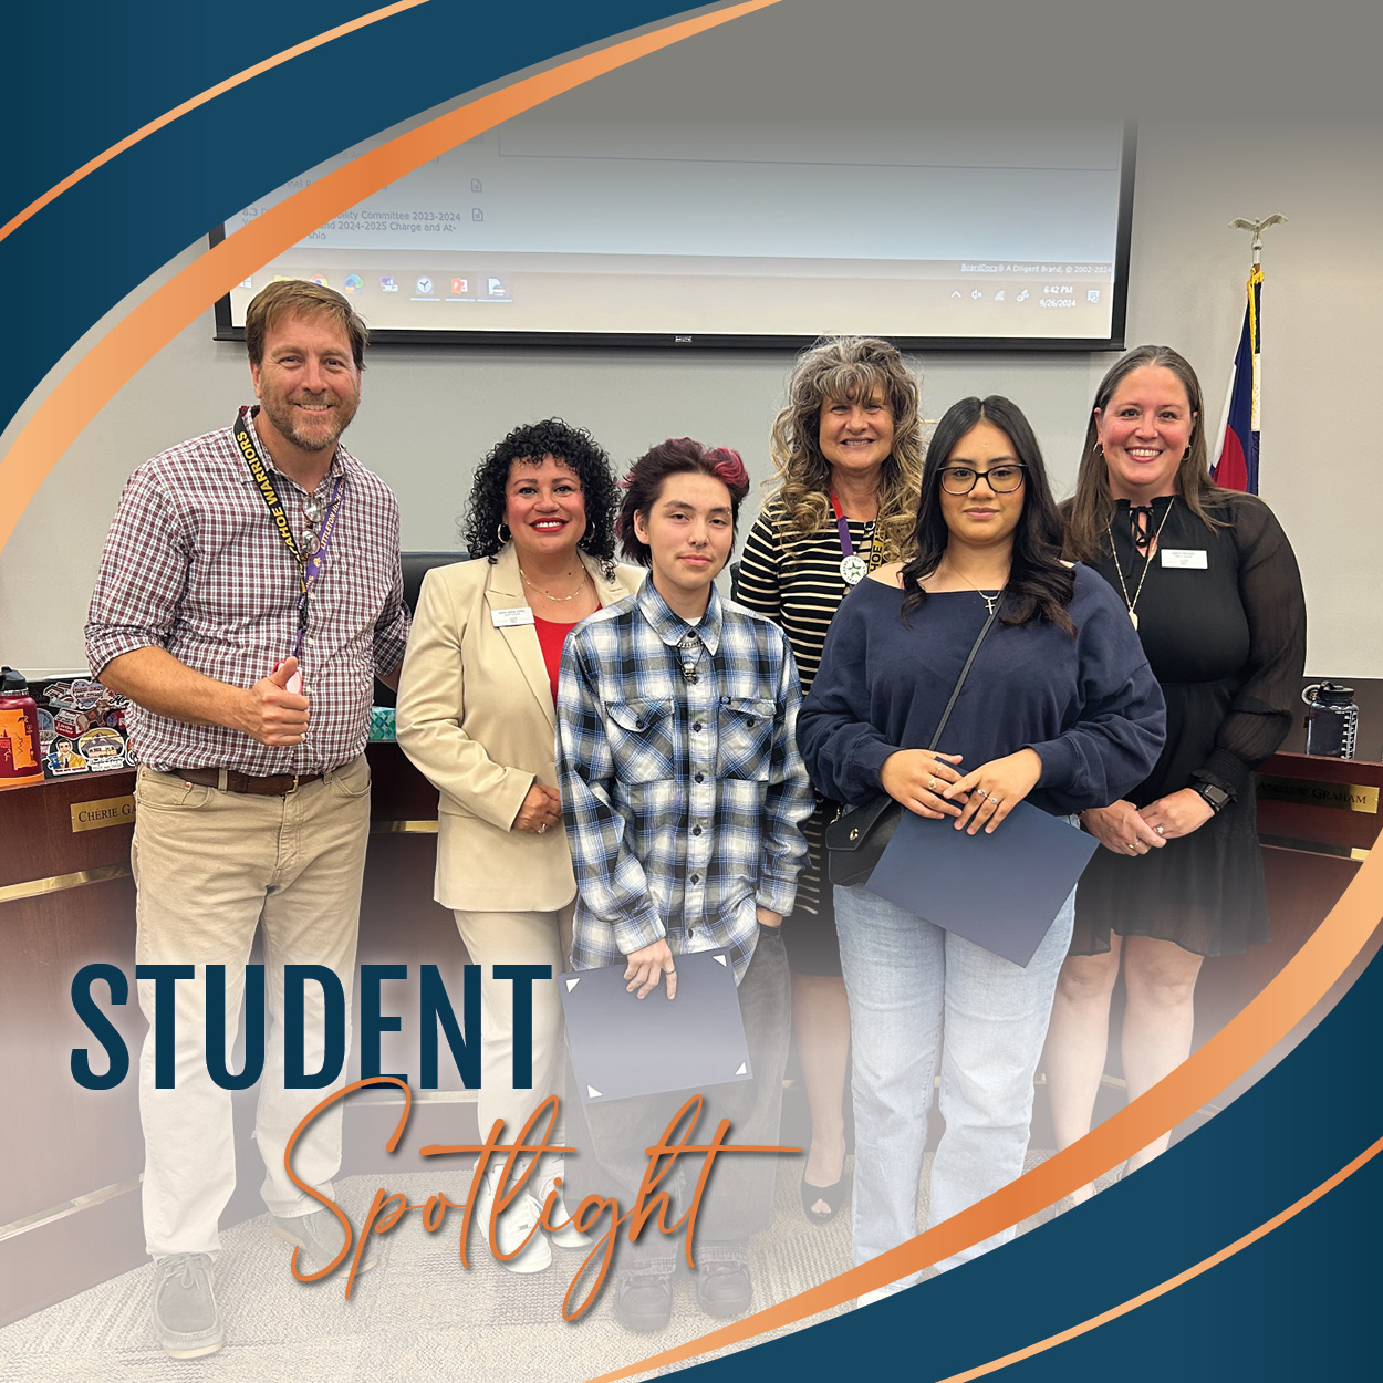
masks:
[[(1247, 236), (1227, 223), (1270, 212), (1289, 217), (1267, 234), (1264, 252), (1261, 490), (1301, 561), (1307, 668), (1315, 676), (1383, 676), (1379, 506), (1368, 488), (1377, 465), (1358, 416), (1372, 411), (1376, 394), (1383, 297), (1369, 232), (1383, 224), (1380, 136), (1377, 116), (1267, 122), (1253, 131), (1234, 120), (1140, 126), (1129, 342), (1167, 342), (1189, 357), (1212, 427), (1249, 261)], [(1250, 158), (1253, 145), (1265, 152)], [(1014, 397), (1037, 429), (1058, 494), (1066, 494), (1094, 384), (1112, 358), (938, 353), (917, 365), (932, 419), (963, 394)], [(661, 437), (690, 434), (737, 447), (751, 474), (765, 479), (769, 425), (790, 362), (787, 354), (758, 353), (380, 347), (349, 443), (397, 492), (404, 545), (449, 548), (476, 459), (514, 423), (549, 414), (588, 426), (618, 462)], [(83, 665), (86, 602), (126, 476), (171, 443), (225, 426), (250, 398), (242, 349), (213, 342), (207, 314), (106, 404), (0, 552), (0, 660), (30, 676)], [(1333, 407), (1336, 400), (1346, 407)], [(755, 509), (757, 498), (745, 517)]]

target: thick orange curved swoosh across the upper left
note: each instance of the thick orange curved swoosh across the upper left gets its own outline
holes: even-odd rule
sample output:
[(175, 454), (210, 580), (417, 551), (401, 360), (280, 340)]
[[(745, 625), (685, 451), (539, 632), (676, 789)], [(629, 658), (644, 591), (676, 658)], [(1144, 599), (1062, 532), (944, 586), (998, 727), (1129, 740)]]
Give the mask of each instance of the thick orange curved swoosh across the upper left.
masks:
[(501, 120), (541, 105), (592, 77), (625, 66), (644, 54), (777, 3), (779, 0), (745, 0), (743, 4), (683, 19), (664, 29), (625, 39), (599, 53), (573, 58), (502, 91), (479, 97), (362, 154), (344, 167), (335, 169), (209, 249), (112, 326), (54, 386), (15, 437), (14, 445), (0, 461), (0, 546), (4, 546), (14, 531), (19, 514), (44, 476), (115, 391), (199, 313), (206, 311), (277, 253), (378, 192), (386, 183), (393, 183), (452, 145), (492, 129)]

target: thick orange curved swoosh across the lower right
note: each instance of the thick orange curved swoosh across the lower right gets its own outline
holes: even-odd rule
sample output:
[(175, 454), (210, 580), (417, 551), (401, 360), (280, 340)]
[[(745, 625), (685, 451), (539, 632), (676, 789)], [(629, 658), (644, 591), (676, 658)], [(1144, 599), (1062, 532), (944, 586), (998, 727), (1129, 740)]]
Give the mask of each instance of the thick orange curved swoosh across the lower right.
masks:
[[(1169, 1129), (1174, 1129), (1220, 1094), (1272, 1050), (1329, 993), (1354, 957), (1368, 945), (1383, 914), (1383, 848), (1371, 851), (1326, 920), (1241, 1014), (1145, 1095), (1106, 1119), (1064, 1152), (1017, 1181), (976, 1202), (925, 1234), (851, 1268), (787, 1301), (755, 1311), (734, 1325), (650, 1355), (629, 1368), (602, 1373), (591, 1383), (614, 1383), (654, 1368), (696, 1358), (709, 1350), (743, 1344), (765, 1330), (781, 1329), (819, 1311), (918, 1272), (1008, 1225), (1036, 1214), (1076, 1187), (1093, 1181)], [(1351, 1163), (1351, 1169), (1353, 1169)], [(1328, 1187), (1326, 1187), (1328, 1188)], [(1210, 1265), (1210, 1264), (1207, 1264)]]

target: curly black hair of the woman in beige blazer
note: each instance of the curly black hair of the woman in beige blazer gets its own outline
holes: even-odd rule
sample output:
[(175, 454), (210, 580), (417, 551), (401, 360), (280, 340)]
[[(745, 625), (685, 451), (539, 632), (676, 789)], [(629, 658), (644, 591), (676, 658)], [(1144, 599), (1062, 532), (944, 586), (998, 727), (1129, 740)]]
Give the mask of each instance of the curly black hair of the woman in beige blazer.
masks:
[(604, 448), (584, 427), (573, 427), (560, 418), (545, 418), (541, 423), (524, 423), (490, 448), (476, 467), (466, 501), (462, 537), (472, 557), (485, 557), (494, 563), (499, 549), (509, 541), (501, 538), (505, 521), (505, 485), (513, 462), (541, 465), (544, 456), (563, 462), (581, 481), (586, 503), (586, 531), (577, 546), (595, 557), (606, 578), (614, 575), (614, 516), (620, 508), (614, 472)]

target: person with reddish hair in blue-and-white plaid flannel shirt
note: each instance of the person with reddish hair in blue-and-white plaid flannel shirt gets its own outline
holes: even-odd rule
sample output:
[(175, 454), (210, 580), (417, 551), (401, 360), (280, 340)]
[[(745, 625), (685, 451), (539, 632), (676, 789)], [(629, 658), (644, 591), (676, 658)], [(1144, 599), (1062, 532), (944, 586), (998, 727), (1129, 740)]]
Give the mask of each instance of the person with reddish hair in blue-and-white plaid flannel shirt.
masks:
[[(709, 1127), (727, 1117), (736, 1142), (772, 1145), (790, 1023), (779, 928), (813, 799), (794, 737), (801, 692), (787, 639), (712, 585), (748, 483), (734, 452), (690, 438), (654, 447), (629, 472), (620, 537), (625, 556), (651, 570), (638, 595), (567, 640), (557, 773), (578, 889), (573, 967), (624, 960), (631, 992), (643, 999), (665, 982), (674, 999), (676, 957), (723, 947), (754, 1080), (711, 1093)], [(632, 1199), (650, 1135), (682, 1102), (571, 1101), (568, 1138), (589, 1155), (568, 1159), (568, 1184)], [(772, 1221), (773, 1177), (765, 1156), (716, 1170), (698, 1217), (697, 1301), (711, 1315), (748, 1310), (748, 1238)], [(676, 1247), (650, 1227), (624, 1252), (615, 1315), (632, 1330), (661, 1329)]]

